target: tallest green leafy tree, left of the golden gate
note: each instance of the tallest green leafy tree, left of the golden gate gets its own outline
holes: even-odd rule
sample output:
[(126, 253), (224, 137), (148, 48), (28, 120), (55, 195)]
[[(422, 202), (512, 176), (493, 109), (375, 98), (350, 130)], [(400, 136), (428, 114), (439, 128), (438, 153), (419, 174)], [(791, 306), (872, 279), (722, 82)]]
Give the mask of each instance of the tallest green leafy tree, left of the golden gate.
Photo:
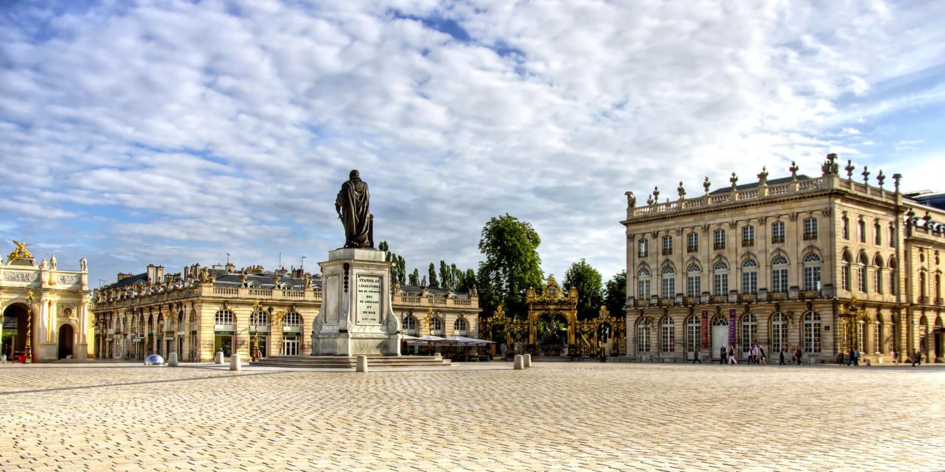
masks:
[(525, 312), (524, 295), (528, 287), (541, 287), (541, 237), (526, 221), (506, 213), (492, 217), (482, 228), (479, 252), (486, 256), (479, 262), (476, 280), (483, 315), (490, 316), (500, 303), (509, 316)]

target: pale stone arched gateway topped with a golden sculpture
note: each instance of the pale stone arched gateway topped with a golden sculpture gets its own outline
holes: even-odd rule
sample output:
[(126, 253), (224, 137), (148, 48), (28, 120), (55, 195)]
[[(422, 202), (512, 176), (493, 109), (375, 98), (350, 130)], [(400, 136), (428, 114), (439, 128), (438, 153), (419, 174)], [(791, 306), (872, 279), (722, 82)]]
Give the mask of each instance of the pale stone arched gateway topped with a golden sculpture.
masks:
[(18, 362), (88, 358), (92, 293), (85, 258), (77, 271), (62, 270), (55, 254), (37, 264), (29, 244), (13, 243), (16, 249), (0, 263), (0, 351)]

